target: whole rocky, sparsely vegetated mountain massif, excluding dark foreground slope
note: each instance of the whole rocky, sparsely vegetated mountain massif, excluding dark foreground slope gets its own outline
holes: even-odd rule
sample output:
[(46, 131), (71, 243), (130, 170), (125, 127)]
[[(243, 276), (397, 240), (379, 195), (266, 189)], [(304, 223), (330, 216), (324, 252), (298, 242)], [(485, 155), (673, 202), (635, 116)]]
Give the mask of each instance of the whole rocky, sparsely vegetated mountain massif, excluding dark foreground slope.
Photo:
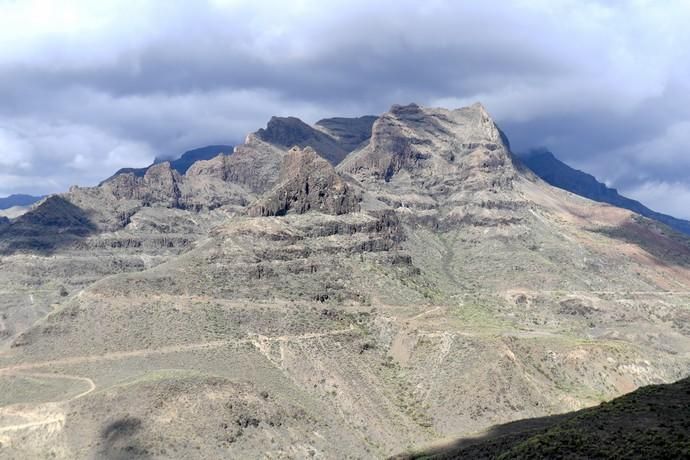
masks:
[(690, 369), (690, 243), (479, 104), (273, 118), (0, 222), (0, 457), (384, 458)]

